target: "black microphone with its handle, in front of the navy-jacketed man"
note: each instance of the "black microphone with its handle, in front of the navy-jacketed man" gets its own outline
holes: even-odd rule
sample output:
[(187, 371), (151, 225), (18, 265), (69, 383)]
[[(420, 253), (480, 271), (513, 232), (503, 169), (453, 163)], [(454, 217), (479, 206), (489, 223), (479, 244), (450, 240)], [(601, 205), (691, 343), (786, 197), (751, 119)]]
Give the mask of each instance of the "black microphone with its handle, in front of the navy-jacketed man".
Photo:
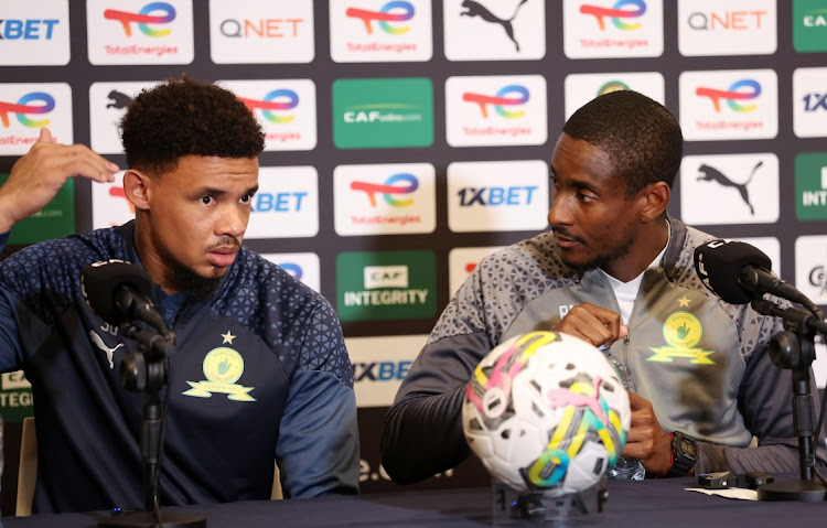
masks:
[(152, 280), (139, 266), (103, 260), (80, 270), (80, 291), (86, 303), (107, 323), (120, 326), (143, 321), (169, 341), (172, 333), (149, 300)]

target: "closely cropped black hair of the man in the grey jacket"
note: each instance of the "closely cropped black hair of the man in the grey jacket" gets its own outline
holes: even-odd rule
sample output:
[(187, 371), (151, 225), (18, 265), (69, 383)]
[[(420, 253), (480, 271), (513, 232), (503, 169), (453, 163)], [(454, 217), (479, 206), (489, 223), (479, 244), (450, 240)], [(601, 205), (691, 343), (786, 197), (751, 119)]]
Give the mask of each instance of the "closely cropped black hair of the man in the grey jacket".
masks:
[(610, 91), (578, 109), (562, 131), (598, 147), (626, 182), (626, 197), (655, 182), (669, 187), (680, 169), (684, 136), (669, 110), (632, 90)]

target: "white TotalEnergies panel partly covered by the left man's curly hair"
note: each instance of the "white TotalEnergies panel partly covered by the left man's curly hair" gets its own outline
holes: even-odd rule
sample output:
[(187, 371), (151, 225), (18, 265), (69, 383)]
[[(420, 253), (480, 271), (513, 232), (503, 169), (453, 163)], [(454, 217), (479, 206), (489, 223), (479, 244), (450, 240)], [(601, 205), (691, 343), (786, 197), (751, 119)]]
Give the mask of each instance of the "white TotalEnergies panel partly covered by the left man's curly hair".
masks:
[(222, 80), (221, 84), (236, 94), (261, 123), (265, 151), (315, 148), (315, 84), (312, 80)]

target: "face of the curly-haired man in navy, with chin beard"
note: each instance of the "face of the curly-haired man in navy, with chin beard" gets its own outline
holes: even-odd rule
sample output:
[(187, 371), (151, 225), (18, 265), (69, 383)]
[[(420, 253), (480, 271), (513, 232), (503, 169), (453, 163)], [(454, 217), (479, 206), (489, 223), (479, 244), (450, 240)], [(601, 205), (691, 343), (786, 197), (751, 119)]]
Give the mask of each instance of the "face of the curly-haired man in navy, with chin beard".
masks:
[(148, 180), (141, 260), (149, 259), (150, 274), (157, 269), (162, 288), (191, 289), (187, 276), (191, 282), (224, 276), (241, 246), (257, 188), (255, 158), (187, 155), (174, 171)]

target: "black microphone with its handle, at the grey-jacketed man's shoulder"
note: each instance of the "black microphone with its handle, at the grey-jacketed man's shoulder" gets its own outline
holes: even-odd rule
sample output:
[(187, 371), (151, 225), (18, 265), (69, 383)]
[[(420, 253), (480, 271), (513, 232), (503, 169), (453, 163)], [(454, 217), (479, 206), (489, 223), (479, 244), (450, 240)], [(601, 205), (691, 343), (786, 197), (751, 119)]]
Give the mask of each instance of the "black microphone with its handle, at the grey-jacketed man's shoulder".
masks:
[(695, 271), (704, 285), (728, 303), (748, 304), (770, 293), (797, 302), (824, 319), (813, 301), (771, 270), (770, 257), (745, 243), (716, 239), (695, 248)]

